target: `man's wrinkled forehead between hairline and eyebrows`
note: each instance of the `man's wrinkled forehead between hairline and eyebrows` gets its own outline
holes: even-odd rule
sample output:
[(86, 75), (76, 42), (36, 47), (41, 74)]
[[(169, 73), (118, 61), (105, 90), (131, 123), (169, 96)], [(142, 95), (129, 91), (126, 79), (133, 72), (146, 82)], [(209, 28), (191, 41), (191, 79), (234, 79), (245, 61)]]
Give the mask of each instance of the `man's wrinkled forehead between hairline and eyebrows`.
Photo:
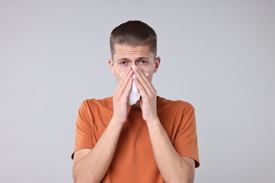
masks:
[(129, 46), (126, 44), (116, 44), (114, 46), (115, 53), (114, 58), (121, 57), (154, 57), (154, 53), (150, 50), (150, 47), (147, 45), (142, 46)]

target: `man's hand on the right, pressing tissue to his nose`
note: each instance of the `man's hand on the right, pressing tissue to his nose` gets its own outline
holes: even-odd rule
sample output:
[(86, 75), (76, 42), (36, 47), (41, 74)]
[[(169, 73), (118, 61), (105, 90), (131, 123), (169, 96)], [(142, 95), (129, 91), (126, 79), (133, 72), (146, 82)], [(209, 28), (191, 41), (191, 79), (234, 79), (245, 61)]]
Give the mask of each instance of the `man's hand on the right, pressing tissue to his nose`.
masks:
[(153, 122), (158, 119), (157, 116), (157, 90), (154, 89), (152, 83), (148, 80), (145, 73), (138, 67), (135, 67), (135, 84), (140, 91), (140, 108), (142, 110), (142, 118), (147, 122)]

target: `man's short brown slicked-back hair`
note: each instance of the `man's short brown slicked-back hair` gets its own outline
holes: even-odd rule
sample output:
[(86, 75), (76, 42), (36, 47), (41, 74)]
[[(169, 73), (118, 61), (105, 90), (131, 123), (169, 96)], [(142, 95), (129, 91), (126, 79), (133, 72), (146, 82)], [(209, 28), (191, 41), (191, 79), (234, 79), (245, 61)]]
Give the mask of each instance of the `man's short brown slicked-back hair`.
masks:
[(139, 20), (122, 23), (111, 32), (110, 48), (112, 57), (116, 52), (114, 49), (115, 44), (126, 44), (129, 46), (148, 45), (154, 56), (157, 55), (156, 32), (154, 32), (152, 27)]

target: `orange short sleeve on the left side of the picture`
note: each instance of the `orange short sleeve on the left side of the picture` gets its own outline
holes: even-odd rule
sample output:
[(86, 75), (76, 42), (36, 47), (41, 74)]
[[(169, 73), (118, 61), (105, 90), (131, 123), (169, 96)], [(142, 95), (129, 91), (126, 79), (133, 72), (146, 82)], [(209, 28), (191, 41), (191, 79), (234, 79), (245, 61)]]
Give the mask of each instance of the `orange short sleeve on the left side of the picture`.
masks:
[(75, 127), (75, 148), (73, 149), (73, 154), (71, 158), (73, 159), (73, 155), (75, 151), (80, 149), (93, 149), (93, 137), (92, 137), (92, 125), (90, 120), (89, 110), (87, 106), (87, 102), (84, 101), (80, 105), (78, 110), (78, 117), (76, 119), (76, 127)]

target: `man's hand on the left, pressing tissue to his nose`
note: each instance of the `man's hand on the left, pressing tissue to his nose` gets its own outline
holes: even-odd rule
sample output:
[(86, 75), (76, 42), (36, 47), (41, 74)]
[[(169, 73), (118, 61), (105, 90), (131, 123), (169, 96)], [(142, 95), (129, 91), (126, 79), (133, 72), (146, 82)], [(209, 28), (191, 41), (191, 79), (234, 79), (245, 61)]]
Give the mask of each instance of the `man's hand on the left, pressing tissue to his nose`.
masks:
[(133, 70), (131, 67), (126, 68), (121, 75), (121, 80), (118, 81), (118, 86), (113, 95), (114, 114), (113, 119), (115, 122), (123, 124), (126, 122), (130, 106), (128, 106), (128, 96), (133, 84)]

